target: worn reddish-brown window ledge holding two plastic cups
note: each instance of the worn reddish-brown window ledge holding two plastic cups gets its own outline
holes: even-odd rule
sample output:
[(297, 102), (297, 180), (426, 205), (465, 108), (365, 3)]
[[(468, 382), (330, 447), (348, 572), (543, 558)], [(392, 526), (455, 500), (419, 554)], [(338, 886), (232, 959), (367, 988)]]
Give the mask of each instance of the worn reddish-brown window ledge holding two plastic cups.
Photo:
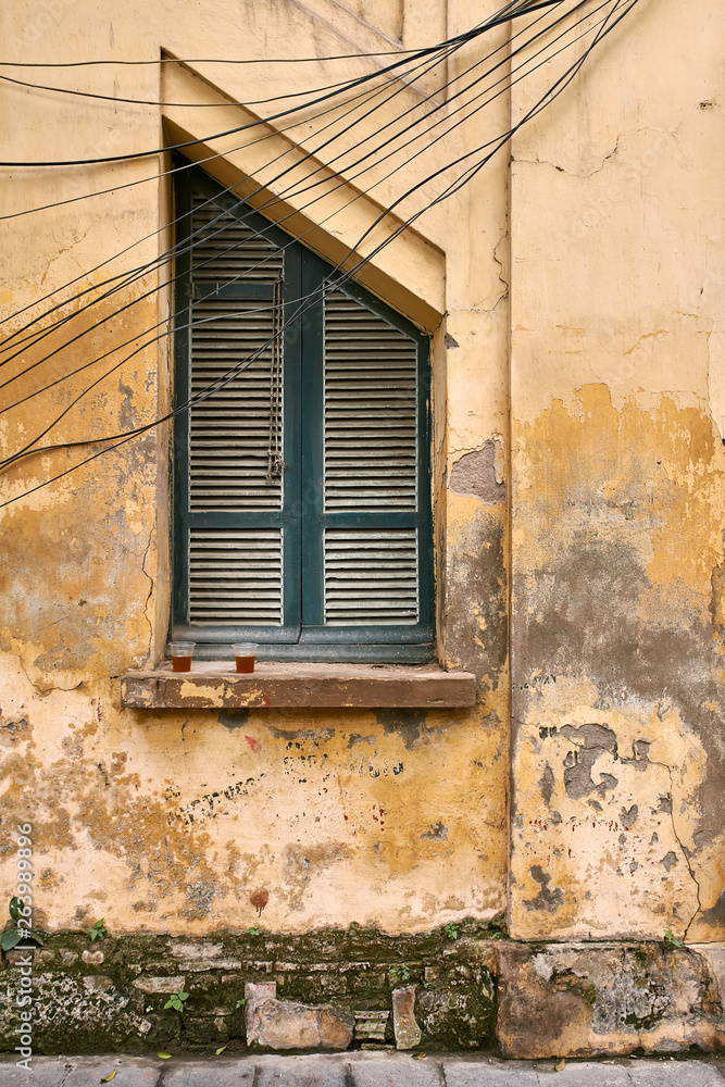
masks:
[(277, 664), (238, 675), (229, 661), (198, 661), (191, 672), (128, 672), (121, 704), (134, 709), (264, 707), (421, 707), (458, 709), (476, 701), (475, 677), (430, 664)]

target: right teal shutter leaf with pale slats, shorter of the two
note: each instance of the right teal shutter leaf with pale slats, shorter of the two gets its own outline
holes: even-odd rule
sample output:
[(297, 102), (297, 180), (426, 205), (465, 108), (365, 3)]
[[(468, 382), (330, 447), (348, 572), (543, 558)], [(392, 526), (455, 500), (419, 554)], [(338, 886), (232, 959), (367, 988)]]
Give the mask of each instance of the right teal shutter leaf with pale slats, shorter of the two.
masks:
[(427, 340), (311, 253), (304, 270), (302, 640), (412, 659), (390, 647), (433, 639)]

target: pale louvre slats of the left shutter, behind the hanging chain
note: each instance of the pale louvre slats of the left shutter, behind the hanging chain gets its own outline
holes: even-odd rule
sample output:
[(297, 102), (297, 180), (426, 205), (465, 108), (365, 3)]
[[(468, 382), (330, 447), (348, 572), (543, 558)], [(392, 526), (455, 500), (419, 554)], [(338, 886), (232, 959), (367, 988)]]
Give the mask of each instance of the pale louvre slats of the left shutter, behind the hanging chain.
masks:
[[(271, 436), (282, 447), (280, 303), (284, 252), (196, 195), (191, 228), (190, 392), (255, 355), (189, 412), (189, 620), (283, 624), (283, 533), (254, 525), (279, 511), (282, 473), (268, 478)], [(214, 222), (215, 221), (215, 222)], [(268, 340), (268, 346), (264, 347)], [(273, 387), (274, 384), (274, 387)], [(273, 403), (274, 401), (274, 403)], [(217, 527), (205, 514), (238, 514)]]

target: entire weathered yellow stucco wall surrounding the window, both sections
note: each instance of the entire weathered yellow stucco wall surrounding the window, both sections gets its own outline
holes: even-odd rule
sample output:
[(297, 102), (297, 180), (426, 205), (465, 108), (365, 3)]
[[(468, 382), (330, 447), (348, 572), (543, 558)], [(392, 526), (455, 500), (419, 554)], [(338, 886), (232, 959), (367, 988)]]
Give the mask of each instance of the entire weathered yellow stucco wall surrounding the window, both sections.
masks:
[[(697, 914), (691, 938), (722, 938), (725, 400), (713, 149), (722, 148), (723, 16), (714, 0), (697, 20), (687, 8), (641, 0), (573, 88), (362, 276), (433, 335), (439, 655), (476, 674), (474, 709), (122, 711), (117, 677), (159, 660), (166, 638), (164, 427), (0, 511), (2, 827), (34, 824), (40, 923), (245, 928), (258, 920), (252, 899), (267, 892), (261, 923), (282, 932), (351, 922), (424, 929), (509, 904), (523, 937), (682, 934)], [(0, 12), (0, 40), (27, 61), (153, 60), (161, 50), (329, 57), (438, 40), (495, 5), (485, 9), (18, 0)], [(497, 33), (499, 45), (507, 32)], [(483, 52), (467, 46), (449, 76)], [(37, 82), (163, 104), (5, 85), (2, 158), (122, 154), (186, 134), (203, 140), (195, 158), (220, 155), (207, 165), (223, 184), (249, 177), (280, 196), (259, 147), (209, 134), (270, 117), (259, 99), (371, 63), (189, 64), (164, 77), (153, 64), (38, 70)], [(393, 178), (373, 172), (367, 184), (379, 184), (364, 198), (354, 178), (340, 196), (324, 174), (329, 191), (315, 209), (283, 201), (288, 226), (312, 229), (315, 248), (337, 258), (426, 173), (525, 114), (546, 79), (542, 68), (496, 98)], [(397, 89), (388, 120), (420, 102), (429, 77)], [(309, 122), (280, 127), (266, 129), (271, 158), (315, 147)], [(316, 166), (329, 172), (322, 152), (295, 176)], [(168, 245), (155, 234), (170, 220), (167, 184), (155, 178), (167, 168), (165, 154), (5, 168), (4, 214), (117, 187), (0, 221), (3, 315), (76, 276), (78, 289), (98, 287), (153, 260)], [(320, 225), (353, 196), (333, 225)], [(412, 210), (408, 201), (397, 214)], [(70, 410), (47, 441), (121, 433), (164, 410), (166, 340), (72, 404), (167, 317), (163, 276), (149, 273), (122, 297), (135, 304), (112, 316), (120, 296), (98, 302), (90, 313), (108, 317), (103, 325), (3, 389), (21, 400), (129, 341), (0, 416), (5, 454), (59, 408)], [(70, 327), (84, 323), (88, 314)], [(59, 336), (5, 372), (41, 360)], [(2, 500), (85, 454), (21, 461), (0, 476)], [(9, 898), (10, 833), (3, 849)]]

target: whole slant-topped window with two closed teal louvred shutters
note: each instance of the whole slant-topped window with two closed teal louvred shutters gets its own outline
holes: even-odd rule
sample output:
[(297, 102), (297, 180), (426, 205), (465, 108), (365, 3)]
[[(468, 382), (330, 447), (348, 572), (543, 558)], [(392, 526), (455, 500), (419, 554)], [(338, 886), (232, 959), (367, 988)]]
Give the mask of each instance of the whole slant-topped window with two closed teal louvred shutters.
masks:
[(430, 660), (426, 337), (182, 176), (175, 403), (225, 384), (175, 421), (173, 637), (207, 658), (243, 639), (276, 660)]

